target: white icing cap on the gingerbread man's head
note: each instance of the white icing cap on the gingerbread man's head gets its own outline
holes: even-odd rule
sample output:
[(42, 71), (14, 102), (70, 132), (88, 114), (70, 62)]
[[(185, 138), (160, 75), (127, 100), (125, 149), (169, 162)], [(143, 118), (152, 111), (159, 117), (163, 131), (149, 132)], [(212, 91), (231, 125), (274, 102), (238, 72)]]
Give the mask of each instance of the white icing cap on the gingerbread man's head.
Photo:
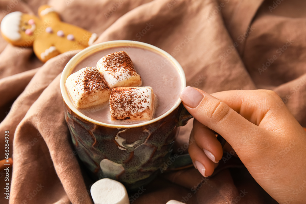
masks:
[(12, 40), (16, 41), (21, 38), (19, 29), (21, 26), (21, 15), (20, 11), (15, 11), (7, 14), (1, 21), (0, 29), (2, 34)]

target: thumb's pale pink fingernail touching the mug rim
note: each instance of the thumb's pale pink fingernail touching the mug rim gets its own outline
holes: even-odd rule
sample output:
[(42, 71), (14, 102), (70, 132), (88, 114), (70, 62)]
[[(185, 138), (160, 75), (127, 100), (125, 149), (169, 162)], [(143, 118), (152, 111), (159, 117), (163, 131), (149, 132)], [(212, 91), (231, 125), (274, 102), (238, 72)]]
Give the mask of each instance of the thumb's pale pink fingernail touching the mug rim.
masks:
[(180, 95), (181, 100), (191, 108), (195, 108), (203, 99), (203, 95), (192, 87), (185, 87)]

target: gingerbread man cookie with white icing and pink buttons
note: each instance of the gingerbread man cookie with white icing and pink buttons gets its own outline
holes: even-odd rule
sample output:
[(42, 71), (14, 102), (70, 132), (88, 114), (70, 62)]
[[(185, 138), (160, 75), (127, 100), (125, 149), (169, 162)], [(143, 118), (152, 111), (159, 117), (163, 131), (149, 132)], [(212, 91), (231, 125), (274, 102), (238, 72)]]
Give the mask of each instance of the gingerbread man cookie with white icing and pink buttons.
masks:
[(50, 6), (40, 6), (38, 13), (39, 18), (19, 11), (7, 14), (0, 26), (3, 38), (15, 46), (33, 46), (43, 62), (69, 50), (84, 49), (97, 39), (95, 33), (62, 22)]

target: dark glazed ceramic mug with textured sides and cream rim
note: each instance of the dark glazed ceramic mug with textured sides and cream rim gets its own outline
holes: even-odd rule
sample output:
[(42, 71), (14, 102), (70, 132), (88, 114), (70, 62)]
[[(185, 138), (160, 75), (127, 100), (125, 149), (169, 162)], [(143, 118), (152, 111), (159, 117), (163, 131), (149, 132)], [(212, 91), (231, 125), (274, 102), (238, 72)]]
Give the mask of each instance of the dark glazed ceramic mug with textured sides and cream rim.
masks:
[(185, 125), (192, 116), (186, 111), (179, 97), (166, 113), (138, 124), (106, 124), (80, 113), (69, 98), (65, 88), (66, 79), (84, 58), (116, 46), (133, 46), (154, 51), (175, 66), (180, 75), (182, 89), (186, 87), (186, 79), (181, 65), (164, 50), (147, 43), (127, 40), (90, 46), (76, 54), (62, 72), (60, 85), (65, 119), (80, 160), (94, 180), (118, 180), (132, 191), (153, 180), (161, 172), (160, 168), (165, 169), (165, 164), (169, 164), (169, 158), (177, 160), (170, 162), (174, 167), (191, 163), (188, 155), (170, 155), (178, 127)]

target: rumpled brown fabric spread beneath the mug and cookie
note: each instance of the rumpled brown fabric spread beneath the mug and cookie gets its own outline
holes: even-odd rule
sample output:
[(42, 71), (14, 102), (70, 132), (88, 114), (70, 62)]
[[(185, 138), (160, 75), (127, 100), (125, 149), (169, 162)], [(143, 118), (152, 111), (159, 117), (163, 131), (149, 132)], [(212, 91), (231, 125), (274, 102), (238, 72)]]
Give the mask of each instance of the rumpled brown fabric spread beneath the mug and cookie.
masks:
[[(118, 2), (122, 4), (114, 9)], [(37, 14), (41, 4), (49, 4), (65, 22), (96, 32), (100, 37), (95, 43), (139, 40), (162, 48), (182, 65), (188, 85), (208, 93), (272, 89), (300, 124), (306, 126), (306, 3), (276, 2), (281, 3), (275, 6), (272, 0), (5, 0), (0, 2), (0, 19), (17, 10)], [(106, 17), (112, 7), (113, 13)], [(151, 28), (139, 35), (147, 24)], [(287, 40), (292, 43), (285, 47)], [(286, 50), (279, 52), (283, 46)], [(6, 116), (0, 132), (9, 130), (9, 154), (13, 157), (9, 203), (91, 203), (88, 190), (92, 181), (72, 148), (59, 89), (62, 69), (77, 51), (42, 65), (30, 48), (7, 45), (0, 37), (0, 52), (0, 116)], [(267, 62), (274, 55), (276, 58), (269, 65)], [(263, 64), (267, 68), (262, 72)], [(187, 140), (184, 135), (190, 133), (190, 128), (189, 124), (180, 141)], [(1, 139), (0, 155), (5, 153), (4, 143)], [(0, 203), (8, 203), (4, 198), (3, 172)], [(202, 186), (194, 193), (194, 186), (200, 182)], [(134, 196), (131, 203), (163, 204), (170, 199), (188, 199), (187, 203), (274, 202), (244, 168), (226, 169), (206, 180), (193, 168), (169, 172), (145, 188), (139, 198), (130, 195)], [(248, 193), (242, 197), (241, 192)]]

